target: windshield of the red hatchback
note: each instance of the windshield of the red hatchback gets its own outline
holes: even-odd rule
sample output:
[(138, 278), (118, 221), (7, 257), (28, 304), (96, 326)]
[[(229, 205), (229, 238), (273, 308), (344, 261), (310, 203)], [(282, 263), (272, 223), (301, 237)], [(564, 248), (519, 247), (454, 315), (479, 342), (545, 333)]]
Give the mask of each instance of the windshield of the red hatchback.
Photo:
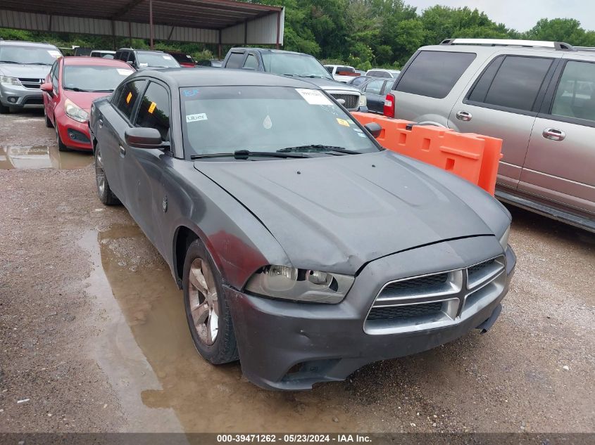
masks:
[(113, 91), (134, 70), (105, 66), (65, 66), (62, 86), (75, 91)]

